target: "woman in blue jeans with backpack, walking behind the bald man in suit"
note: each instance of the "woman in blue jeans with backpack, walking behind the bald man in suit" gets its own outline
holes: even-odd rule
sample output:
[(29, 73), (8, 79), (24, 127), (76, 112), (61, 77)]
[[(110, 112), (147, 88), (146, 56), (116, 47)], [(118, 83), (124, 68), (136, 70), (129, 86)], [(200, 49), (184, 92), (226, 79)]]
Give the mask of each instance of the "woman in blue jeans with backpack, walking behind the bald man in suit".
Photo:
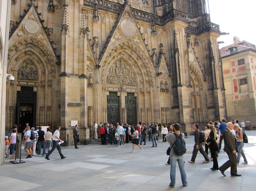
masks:
[(236, 160), (237, 165), (239, 164), (241, 154), (242, 154), (242, 157), (244, 158), (244, 162), (242, 164), (247, 165), (248, 162), (243, 151), (244, 141), (243, 141), (242, 128), (239, 127), (239, 125), (235, 125), (234, 129), (236, 131), (235, 137), (236, 137), (236, 148), (237, 148), (237, 160)]

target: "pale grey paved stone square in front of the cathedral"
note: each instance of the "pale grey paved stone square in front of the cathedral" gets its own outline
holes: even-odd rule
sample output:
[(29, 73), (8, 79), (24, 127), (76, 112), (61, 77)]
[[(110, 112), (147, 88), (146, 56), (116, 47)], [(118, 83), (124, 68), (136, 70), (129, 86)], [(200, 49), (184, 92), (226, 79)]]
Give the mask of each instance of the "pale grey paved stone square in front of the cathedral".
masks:
[[(248, 165), (237, 166), (241, 177), (231, 177), (230, 169), (223, 177), (220, 171), (211, 171), (212, 162), (204, 164), (204, 157), (198, 153), (195, 163), (191, 159), (194, 137), (185, 138), (187, 153), (185, 169), (188, 186), (183, 187), (178, 167), (176, 185), (170, 188), (170, 165), (166, 165), (168, 143), (158, 141), (157, 147), (151, 148), (152, 142), (142, 145), (144, 151), (130, 153), (131, 143), (115, 145), (79, 145), (62, 147), (67, 158), (61, 160), (55, 150), (46, 160), (41, 155), (26, 159), (22, 151), (23, 164), (12, 164), (6, 159), (0, 166), (0, 189), (2, 191), (255, 191), (256, 190), (256, 131), (246, 131), (249, 139), (244, 144)], [(224, 145), (223, 145), (224, 146)], [(210, 154), (209, 154), (210, 155)], [(221, 150), (219, 165), (228, 160)]]

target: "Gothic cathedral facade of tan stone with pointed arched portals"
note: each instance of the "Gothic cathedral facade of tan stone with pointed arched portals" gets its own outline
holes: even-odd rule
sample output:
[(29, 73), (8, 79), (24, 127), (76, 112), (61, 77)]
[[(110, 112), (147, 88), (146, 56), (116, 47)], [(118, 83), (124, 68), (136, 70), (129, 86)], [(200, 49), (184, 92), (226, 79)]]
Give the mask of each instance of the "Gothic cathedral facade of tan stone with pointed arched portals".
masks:
[[(12, 0), (6, 128), (204, 124), (227, 116), (204, 0)], [(72, 142), (72, 136), (70, 137)]]

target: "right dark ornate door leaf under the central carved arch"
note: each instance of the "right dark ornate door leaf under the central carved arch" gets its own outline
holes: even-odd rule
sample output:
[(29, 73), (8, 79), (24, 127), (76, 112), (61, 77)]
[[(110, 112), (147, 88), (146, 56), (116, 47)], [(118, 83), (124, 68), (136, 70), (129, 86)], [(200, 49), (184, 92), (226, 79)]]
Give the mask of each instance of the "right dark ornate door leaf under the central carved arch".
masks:
[(137, 105), (136, 105), (136, 97), (134, 94), (127, 93), (125, 97), (125, 106), (127, 113), (127, 123), (128, 124), (137, 124)]

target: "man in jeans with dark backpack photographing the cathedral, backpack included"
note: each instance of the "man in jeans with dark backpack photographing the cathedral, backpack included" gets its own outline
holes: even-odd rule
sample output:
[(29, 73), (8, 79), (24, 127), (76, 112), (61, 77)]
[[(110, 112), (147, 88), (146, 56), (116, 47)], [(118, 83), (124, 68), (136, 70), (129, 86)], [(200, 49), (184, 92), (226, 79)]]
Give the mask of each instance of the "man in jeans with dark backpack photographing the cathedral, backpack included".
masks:
[[(174, 131), (174, 133), (172, 133)], [(176, 162), (178, 162), (180, 168), (180, 176), (183, 186), (187, 186), (186, 171), (184, 168), (184, 154), (186, 152), (186, 144), (184, 141), (184, 134), (180, 133), (180, 124), (175, 123), (174, 126), (170, 126), (170, 131), (166, 135), (166, 140), (170, 143), (170, 187), (175, 187), (176, 180)]]

